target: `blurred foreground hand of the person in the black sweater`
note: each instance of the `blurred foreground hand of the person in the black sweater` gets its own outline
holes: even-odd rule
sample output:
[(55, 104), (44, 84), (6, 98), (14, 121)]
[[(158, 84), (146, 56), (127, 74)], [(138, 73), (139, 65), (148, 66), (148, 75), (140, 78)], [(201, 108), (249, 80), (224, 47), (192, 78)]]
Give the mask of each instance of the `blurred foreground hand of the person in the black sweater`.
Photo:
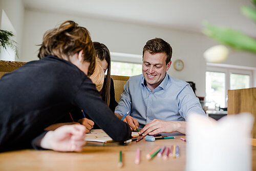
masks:
[(40, 146), (59, 152), (80, 152), (86, 144), (84, 141), (86, 127), (83, 125), (64, 125), (55, 131), (49, 131), (41, 140)]

